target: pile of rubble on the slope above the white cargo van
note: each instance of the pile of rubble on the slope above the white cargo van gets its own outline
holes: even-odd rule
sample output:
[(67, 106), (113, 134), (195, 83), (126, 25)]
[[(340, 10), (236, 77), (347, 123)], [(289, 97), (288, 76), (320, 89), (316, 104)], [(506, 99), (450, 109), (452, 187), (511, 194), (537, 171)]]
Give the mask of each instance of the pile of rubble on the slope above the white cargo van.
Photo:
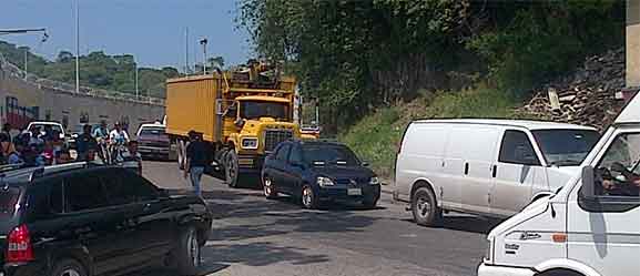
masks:
[(607, 127), (623, 102), (624, 50), (589, 58), (573, 75), (545, 85), (520, 109), (526, 116), (556, 122)]

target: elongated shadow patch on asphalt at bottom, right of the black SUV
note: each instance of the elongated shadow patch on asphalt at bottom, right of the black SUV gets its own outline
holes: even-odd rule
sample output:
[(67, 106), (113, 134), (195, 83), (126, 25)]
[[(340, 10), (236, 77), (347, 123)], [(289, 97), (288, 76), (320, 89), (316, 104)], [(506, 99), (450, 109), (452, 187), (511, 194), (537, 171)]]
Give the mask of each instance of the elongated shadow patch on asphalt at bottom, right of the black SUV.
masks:
[(250, 244), (211, 245), (202, 251), (204, 263), (243, 264), (247, 266), (267, 266), (287, 262), (293, 265), (307, 265), (329, 260), (327, 255), (307, 255), (305, 248), (278, 246), (270, 242)]

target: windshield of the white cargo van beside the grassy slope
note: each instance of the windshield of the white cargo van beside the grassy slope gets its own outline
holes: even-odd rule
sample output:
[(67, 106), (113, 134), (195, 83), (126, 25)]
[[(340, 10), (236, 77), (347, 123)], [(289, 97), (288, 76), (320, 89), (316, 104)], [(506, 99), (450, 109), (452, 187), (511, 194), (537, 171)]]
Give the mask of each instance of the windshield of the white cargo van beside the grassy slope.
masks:
[(577, 166), (587, 157), (600, 139), (597, 131), (540, 130), (532, 131), (549, 165)]

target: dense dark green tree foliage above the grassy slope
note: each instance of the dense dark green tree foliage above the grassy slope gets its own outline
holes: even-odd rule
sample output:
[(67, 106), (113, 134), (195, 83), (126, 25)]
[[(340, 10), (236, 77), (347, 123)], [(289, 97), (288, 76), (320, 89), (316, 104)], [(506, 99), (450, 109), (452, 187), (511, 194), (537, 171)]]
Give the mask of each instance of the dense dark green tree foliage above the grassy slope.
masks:
[(453, 75), (526, 89), (623, 41), (624, 3), (616, 0), (238, 0), (238, 7), (256, 52), (286, 61), (334, 131), (417, 91), (476, 80)]

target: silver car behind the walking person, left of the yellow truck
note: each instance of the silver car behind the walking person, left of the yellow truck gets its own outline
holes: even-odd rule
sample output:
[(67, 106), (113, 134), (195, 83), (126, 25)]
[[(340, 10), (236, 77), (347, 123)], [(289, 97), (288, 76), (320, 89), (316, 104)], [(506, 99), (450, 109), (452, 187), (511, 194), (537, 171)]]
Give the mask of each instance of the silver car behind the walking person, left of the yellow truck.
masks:
[(163, 124), (142, 124), (138, 129), (138, 150), (143, 157), (169, 160), (170, 140)]

